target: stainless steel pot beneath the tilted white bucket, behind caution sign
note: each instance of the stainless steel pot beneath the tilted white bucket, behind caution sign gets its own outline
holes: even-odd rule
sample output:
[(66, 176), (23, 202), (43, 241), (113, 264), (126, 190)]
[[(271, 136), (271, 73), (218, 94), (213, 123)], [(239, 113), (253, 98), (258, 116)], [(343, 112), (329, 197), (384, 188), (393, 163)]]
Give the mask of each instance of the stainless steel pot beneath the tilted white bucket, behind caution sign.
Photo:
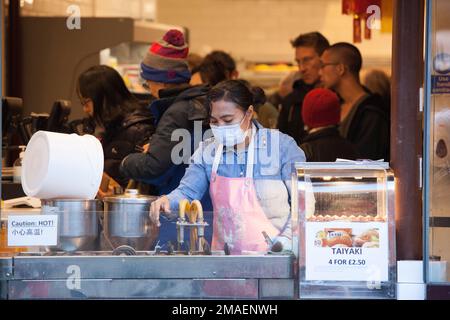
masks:
[(99, 217), (103, 211), (100, 200), (41, 200), (42, 214), (58, 215), (58, 246), (50, 251), (97, 250)]

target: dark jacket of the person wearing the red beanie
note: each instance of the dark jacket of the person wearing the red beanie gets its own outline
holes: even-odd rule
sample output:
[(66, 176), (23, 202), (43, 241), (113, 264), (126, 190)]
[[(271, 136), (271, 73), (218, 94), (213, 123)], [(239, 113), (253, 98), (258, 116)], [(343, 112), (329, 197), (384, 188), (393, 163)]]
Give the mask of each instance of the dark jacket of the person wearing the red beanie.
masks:
[(308, 162), (334, 162), (337, 158), (356, 160), (359, 157), (356, 146), (344, 139), (337, 127), (323, 128), (308, 134), (300, 148)]

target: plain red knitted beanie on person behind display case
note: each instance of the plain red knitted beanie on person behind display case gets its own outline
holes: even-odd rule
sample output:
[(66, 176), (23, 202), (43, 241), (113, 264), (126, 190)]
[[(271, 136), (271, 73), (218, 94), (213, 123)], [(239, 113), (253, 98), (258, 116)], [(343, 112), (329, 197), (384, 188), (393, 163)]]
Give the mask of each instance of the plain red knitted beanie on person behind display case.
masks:
[(341, 118), (338, 96), (328, 89), (313, 89), (303, 99), (303, 123), (309, 129), (337, 125)]

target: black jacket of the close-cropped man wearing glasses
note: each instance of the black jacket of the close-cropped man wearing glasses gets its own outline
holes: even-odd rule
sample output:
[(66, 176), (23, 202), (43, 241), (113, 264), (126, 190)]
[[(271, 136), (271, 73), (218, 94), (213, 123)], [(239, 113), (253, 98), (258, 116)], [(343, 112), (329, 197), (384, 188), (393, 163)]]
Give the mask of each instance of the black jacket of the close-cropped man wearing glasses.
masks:
[(362, 159), (389, 161), (390, 115), (380, 96), (364, 96), (341, 123), (340, 132), (356, 145)]

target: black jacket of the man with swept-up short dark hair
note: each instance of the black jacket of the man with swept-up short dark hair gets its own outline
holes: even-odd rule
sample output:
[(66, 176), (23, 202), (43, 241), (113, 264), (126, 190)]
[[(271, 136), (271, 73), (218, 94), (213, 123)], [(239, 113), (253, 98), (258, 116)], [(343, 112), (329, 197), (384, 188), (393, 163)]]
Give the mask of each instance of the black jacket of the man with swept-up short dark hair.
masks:
[(297, 144), (301, 144), (306, 135), (302, 120), (303, 99), (314, 87), (315, 85), (308, 85), (302, 80), (297, 80), (294, 82), (293, 91), (281, 103), (278, 129), (294, 138)]

